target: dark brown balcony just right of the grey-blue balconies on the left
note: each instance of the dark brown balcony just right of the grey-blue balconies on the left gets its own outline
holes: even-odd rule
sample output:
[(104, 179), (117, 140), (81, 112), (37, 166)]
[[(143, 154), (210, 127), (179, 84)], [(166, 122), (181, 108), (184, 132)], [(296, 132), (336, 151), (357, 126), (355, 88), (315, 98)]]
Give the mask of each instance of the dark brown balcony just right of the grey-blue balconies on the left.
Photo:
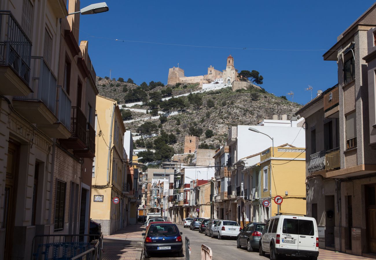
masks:
[(70, 138), (60, 139), (61, 144), (67, 149), (87, 149), (86, 117), (79, 107), (71, 108), (70, 132)]

